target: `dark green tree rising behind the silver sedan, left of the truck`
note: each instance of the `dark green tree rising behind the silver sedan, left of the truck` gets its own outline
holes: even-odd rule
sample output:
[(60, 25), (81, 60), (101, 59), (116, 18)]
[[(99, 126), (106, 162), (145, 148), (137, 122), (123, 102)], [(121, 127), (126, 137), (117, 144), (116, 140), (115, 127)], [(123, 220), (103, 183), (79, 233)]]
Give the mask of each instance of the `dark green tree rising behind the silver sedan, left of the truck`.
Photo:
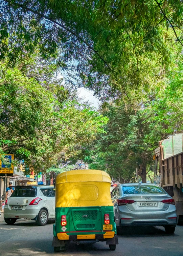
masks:
[(123, 102), (118, 106), (108, 105), (102, 114), (109, 121), (105, 127), (106, 134), (99, 135), (96, 144), (100, 150), (94, 158), (96, 164), (100, 164), (102, 159), (106, 170), (121, 182), (134, 181), (138, 170), (142, 182), (146, 182), (149, 171), (146, 166), (153, 160), (153, 151), (152, 145), (145, 141), (148, 125), (143, 124), (144, 118)]

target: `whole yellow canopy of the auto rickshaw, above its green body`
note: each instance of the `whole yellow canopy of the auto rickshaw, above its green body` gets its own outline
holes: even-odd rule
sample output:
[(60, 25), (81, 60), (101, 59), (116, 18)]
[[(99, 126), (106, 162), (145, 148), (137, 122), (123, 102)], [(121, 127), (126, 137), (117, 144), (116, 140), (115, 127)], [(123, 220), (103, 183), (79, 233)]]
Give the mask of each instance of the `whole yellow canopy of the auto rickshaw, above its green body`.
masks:
[(111, 178), (99, 170), (73, 170), (56, 177), (55, 207), (113, 206)]

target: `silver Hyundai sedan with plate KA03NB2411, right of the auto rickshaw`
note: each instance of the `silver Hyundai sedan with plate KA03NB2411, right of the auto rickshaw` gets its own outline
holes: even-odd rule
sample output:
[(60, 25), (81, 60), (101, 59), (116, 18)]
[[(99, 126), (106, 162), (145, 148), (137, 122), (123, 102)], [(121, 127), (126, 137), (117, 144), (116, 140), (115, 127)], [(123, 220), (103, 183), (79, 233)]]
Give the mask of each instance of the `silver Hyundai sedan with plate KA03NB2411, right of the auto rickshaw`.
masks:
[(164, 226), (173, 234), (177, 225), (174, 199), (149, 183), (118, 184), (111, 192), (116, 226)]

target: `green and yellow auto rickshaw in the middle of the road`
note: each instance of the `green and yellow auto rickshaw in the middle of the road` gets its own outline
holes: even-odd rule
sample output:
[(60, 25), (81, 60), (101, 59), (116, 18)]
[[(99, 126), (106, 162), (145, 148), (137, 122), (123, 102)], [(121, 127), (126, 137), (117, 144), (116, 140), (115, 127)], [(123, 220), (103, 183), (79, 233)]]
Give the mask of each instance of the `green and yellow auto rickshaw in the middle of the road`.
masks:
[(106, 241), (116, 249), (118, 238), (110, 196), (111, 179), (103, 171), (74, 170), (56, 177), (54, 252), (65, 243)]

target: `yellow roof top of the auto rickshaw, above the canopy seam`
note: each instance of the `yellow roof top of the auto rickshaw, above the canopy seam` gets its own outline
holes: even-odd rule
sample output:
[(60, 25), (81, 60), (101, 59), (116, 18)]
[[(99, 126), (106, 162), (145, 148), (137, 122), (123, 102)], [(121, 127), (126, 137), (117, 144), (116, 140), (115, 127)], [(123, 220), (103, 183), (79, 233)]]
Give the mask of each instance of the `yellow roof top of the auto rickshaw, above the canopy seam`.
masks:
[(56, 183), (68, 183), (68, 182), (109, 182), (111, 178), (109, 174), (99, 170), (73, 170), (59, 174), (56, 177)]

